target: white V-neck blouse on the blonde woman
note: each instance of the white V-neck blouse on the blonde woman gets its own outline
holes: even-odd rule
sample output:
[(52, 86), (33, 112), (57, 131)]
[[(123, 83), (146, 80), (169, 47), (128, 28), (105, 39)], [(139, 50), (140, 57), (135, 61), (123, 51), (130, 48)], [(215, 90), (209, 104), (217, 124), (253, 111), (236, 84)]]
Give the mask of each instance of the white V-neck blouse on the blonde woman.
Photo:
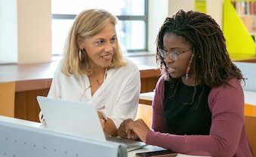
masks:
[(91, 101), (92, 104), (113, 120), (116, 128), (125, 119), (134, 119), (140, 95), (140, 71), (137, 65), (125, 59), (127, 65), (106, 71), (106, 79), (91, 96), (87, 75), (66, 77), (60, 64), (54, 73), (48, 97), (70, 101)]

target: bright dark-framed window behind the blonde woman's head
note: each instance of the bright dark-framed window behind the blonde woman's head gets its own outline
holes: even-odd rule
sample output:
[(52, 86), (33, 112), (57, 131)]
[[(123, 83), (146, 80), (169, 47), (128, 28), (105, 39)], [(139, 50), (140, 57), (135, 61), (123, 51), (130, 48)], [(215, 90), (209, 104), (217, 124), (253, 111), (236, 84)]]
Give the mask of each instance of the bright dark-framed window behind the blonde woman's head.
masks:
[[(115, 4), (115, 5), (113, 5)], [(59, 56), (76, 14), (103, 8), (119, 19), (116, 32), (128, 52), (147, 51), (147, 0), (52, 0), (52, 54)]]

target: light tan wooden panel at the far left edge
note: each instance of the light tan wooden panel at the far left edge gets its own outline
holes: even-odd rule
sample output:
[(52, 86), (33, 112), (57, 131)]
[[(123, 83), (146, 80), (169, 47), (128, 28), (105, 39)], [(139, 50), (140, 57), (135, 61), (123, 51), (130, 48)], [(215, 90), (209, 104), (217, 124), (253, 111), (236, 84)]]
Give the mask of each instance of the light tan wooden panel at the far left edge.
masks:
[(0, 115), (14, 117), (15, 82), (0, 83)]

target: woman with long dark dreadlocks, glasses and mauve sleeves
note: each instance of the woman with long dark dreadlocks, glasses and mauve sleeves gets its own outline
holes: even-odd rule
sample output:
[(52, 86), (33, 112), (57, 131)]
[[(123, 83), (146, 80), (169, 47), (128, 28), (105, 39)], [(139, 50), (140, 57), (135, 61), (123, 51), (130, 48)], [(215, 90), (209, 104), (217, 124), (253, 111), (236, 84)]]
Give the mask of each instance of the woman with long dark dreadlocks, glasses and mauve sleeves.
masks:
[(151, 129), (142, 119), (127, 119), (119, 136), (189, 155), (253, 157), (244, 125), (244, 77), (217, 23), (180, 10), (165, 19), (156, 45), (163, 74)]

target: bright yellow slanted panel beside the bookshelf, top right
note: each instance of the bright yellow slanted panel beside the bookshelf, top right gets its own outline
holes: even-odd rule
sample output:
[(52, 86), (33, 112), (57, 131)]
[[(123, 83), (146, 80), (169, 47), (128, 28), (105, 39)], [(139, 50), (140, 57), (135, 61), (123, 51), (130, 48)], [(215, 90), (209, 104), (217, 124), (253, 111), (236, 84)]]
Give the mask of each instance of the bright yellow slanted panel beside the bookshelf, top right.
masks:
[(224, 0), (223, 32), (231, 59), (235, 56), (255, 56), (255, 42), (231, 4)]

